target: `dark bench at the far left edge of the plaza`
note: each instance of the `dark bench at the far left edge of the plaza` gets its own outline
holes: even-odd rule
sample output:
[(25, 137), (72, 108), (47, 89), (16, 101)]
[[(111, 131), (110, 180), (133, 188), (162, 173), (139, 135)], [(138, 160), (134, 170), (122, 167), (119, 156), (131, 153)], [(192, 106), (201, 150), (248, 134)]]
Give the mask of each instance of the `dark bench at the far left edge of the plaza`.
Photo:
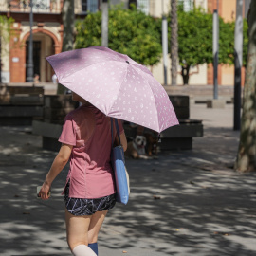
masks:
[(44, 87), (0, 87), (0, 123), (2, 125), (31, 125), (32, 119), (43, 117)]

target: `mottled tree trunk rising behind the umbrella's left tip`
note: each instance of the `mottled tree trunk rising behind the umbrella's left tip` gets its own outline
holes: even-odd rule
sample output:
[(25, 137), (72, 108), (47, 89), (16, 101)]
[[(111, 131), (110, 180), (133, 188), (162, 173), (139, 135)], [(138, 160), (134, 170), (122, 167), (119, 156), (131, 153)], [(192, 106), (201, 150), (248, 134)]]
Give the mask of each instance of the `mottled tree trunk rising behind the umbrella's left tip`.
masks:
[[(64, 0), (63, 6), (63, 23), (64, 23), (64, 39), (62, 51), (72, 50), (74, 44), (74, 26), (75, 26), (75, 13), (74, 13), (74, 1)], [(66, 88), (58, 83), (57, 94), (64, 94)]]

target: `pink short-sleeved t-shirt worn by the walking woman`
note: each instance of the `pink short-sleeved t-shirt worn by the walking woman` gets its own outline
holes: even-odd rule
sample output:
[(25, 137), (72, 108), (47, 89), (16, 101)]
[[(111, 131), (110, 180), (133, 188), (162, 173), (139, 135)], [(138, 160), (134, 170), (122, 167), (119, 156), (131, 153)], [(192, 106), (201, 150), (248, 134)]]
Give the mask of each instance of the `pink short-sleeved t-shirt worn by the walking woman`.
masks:
[[(123, 133), (120, 121), (119, 133)], [(116, 192), (110, 164), (110, 118), (94, 106), (83, 105), (65, 117), (59, 141), (73, 146), (66, 179), (70, 180), (69, 197), (93, 199)]]

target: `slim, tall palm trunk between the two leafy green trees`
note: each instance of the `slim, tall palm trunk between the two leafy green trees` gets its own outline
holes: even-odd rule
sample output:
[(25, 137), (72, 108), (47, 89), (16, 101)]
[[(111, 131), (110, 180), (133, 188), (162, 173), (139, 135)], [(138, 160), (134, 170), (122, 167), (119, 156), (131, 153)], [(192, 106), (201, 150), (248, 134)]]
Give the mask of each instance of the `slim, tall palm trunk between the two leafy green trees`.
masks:
[(178, 60), (178, 22), (177, 22), (177, 2), (171, 0), (171, 74), (172, 85), (177, 84), (177, 60)]

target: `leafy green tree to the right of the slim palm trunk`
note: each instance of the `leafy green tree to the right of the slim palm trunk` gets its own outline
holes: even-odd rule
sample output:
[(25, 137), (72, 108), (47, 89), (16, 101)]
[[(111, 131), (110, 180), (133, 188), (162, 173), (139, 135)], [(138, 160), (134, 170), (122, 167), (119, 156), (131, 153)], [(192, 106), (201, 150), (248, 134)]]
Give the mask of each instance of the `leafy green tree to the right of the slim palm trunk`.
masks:
[[(234, 22), (219, 18), (219, 64), (234, 64)], [(247, 64), (247, 21), (244, 20), (243, 64)], [(170, 34), (170, 33), (169, 33)], [(178, 57), (184, 84), (188, 84), (190, 68), (210, 64), (212, 57), (212, 14), (201, 8), (185, 12), (178, 9)]]

